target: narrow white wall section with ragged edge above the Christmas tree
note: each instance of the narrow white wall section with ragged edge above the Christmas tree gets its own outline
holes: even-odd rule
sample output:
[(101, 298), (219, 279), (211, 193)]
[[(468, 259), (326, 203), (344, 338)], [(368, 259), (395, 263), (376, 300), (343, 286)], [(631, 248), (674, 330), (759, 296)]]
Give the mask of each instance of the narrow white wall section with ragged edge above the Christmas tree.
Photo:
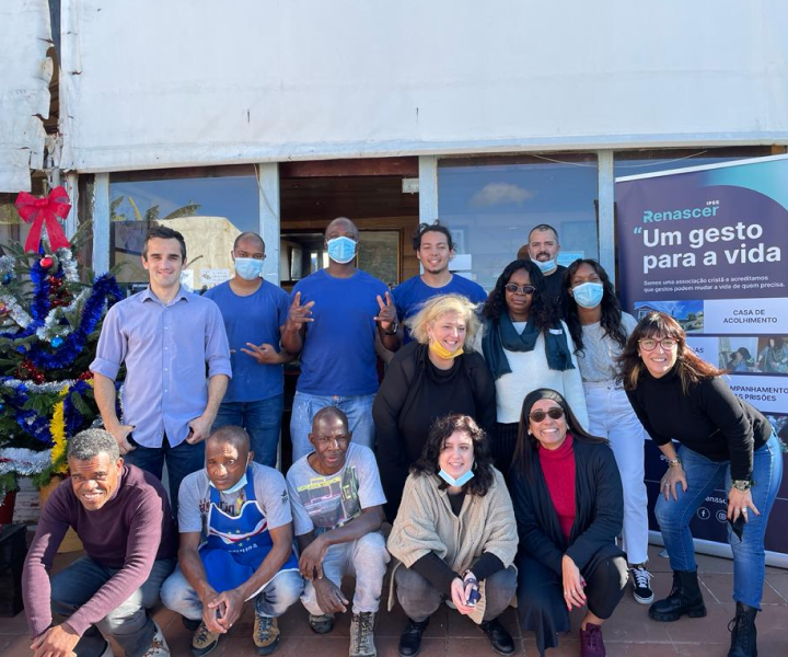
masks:
[(0, 2), (0, 192), (30, 192), (30, 170), (43, 165), (50, 39), (46, 0)]

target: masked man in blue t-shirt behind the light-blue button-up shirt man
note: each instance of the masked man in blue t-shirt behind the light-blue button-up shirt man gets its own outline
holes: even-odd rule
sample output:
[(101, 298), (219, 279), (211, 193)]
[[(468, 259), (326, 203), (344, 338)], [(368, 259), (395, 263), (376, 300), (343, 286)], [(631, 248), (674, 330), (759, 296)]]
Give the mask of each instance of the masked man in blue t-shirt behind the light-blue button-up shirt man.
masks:
[(293, 359), (279, 350), (290, 302), (285, 290), (260, 278), (265, 242), (257, 233), (235, 238), (232, 258), (235, 276), (205, 293), (224, 319), (233, 372), (212, 430), (244, 427), (254, 460), (276, 468), (285, 399), (282, 365)]

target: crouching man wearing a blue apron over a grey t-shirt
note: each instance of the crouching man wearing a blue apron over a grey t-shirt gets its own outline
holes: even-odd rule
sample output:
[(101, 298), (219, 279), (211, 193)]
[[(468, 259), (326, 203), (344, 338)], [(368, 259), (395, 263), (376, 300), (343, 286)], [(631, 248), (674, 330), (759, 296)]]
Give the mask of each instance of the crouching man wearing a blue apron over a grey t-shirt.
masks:
[(205, 469), (181, 484), (178, 567), (162, 601), (195, 630), (195, 657), (217, 646), (252, 598), (254, 643), (270, 655), (279, 645), (277, 618), (303, 590), (285, 477), (253, 457), (246, 431), (221, 427), (206, 441)]

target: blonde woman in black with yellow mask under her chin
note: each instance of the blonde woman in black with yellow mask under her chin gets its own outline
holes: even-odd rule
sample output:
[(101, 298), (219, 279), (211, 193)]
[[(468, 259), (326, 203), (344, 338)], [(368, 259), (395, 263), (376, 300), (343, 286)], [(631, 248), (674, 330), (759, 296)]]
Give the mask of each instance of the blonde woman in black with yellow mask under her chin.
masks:
[(409, 466), (421, 456), (429, 427), (451, 413), (495, 427), (495, 383), (484, 358), (464, 351), (478, 330), (474, 306), (462, 295), (425, 302), (407, 321), (414, 342), (389, 364), (372, 406), (378, 464), (394, 521)]

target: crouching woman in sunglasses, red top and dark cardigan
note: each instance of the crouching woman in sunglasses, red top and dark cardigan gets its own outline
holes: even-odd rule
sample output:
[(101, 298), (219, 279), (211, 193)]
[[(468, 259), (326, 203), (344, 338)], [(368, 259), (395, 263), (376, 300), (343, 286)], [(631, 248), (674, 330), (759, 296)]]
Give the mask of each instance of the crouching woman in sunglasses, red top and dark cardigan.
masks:
[(605, 655), (601, 625), (627, 583), (626, 555), (615, 544), (621, 476), (607, 441), (587, 434), (555, 390), (534, 390), (523, 401), (511, 487), (522, 629), (536, 633), (544, 655), (569, 630), (569, 610), (587, 607), (580, 655)]

